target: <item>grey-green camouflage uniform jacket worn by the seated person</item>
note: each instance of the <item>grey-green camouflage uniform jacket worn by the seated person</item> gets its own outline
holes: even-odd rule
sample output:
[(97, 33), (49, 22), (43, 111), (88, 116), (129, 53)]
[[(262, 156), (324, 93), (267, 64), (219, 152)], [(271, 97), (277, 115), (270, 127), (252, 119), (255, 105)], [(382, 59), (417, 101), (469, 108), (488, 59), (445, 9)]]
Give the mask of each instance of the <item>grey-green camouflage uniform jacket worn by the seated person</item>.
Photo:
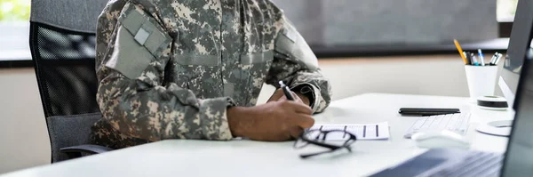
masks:
[(111, 0), (99, 16), (91, 141), (114, 149), (164, 139), (231, 140), (227, 108), (282, 80), (330, 103), (316, 57), (268, 0)]

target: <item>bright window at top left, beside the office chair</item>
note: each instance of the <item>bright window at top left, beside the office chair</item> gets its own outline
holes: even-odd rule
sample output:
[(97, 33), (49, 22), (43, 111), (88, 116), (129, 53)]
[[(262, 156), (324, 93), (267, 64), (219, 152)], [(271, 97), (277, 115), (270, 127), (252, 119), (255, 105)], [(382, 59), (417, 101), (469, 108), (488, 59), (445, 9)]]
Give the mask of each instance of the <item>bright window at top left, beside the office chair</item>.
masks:
[(0, 1), (0, 60), (30, 60), (30, 0)]

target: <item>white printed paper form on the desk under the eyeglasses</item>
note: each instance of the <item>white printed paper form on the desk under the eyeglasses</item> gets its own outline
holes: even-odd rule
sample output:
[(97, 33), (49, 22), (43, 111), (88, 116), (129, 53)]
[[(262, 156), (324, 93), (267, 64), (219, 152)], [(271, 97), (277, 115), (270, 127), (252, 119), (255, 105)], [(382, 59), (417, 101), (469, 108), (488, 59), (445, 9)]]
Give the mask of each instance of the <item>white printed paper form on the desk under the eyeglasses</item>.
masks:
[[(387, 122), (378, 124), (342, 124), (342, 125), (321, 125), (316, 124), (309, 128), (310, 130), (346, 130), (353, 133), (357, 140), (388, 140), (390, 137), (389, 126)], [(337, 134), (336, 134), (337, 135)], [(342, 136), (328, 135), (326, 141), (344, 140)]]

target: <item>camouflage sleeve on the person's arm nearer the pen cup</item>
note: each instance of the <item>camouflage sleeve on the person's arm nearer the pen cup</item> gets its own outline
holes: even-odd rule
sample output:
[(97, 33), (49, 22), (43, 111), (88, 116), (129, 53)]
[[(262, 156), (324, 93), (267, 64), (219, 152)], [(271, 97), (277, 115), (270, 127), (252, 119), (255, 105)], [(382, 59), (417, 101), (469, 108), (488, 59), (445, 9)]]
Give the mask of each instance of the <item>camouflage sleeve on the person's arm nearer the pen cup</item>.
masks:
[(274, 60), (267, 75), (267, 84), (277, 88), (278, 81), (282, 80), (295, 92), (306, 88), (309, 90), (309, 94), (305, 95), (310, 95), (310, 106), (315, 113), (322, 112), (331, 100), (329, 80), (322, 76), (316, 56), (290, 21), (281, 14), (276, 24), (281, 28), (274, 42)]

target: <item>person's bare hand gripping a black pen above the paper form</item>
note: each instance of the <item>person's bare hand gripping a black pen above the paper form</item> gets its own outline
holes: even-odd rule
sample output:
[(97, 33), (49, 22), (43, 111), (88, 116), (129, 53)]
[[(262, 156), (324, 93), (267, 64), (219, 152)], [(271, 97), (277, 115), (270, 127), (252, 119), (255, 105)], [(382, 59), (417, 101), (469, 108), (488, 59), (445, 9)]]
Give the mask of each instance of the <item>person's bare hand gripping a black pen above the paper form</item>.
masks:
[[(286, 87), (282, 85), (282, 87)], [(288, 87), (286, 88), (286, 91)], [(295, 140), (314, 125), (313, 109), (299, 102), (298, 96), (284, 97), (276, 90), (272, 101), (253, 107), (235, 106), (227, 109), (227, 124), (232, 135), (256, 141)], [(289, 101), (289, 99), (297, 99)]]

